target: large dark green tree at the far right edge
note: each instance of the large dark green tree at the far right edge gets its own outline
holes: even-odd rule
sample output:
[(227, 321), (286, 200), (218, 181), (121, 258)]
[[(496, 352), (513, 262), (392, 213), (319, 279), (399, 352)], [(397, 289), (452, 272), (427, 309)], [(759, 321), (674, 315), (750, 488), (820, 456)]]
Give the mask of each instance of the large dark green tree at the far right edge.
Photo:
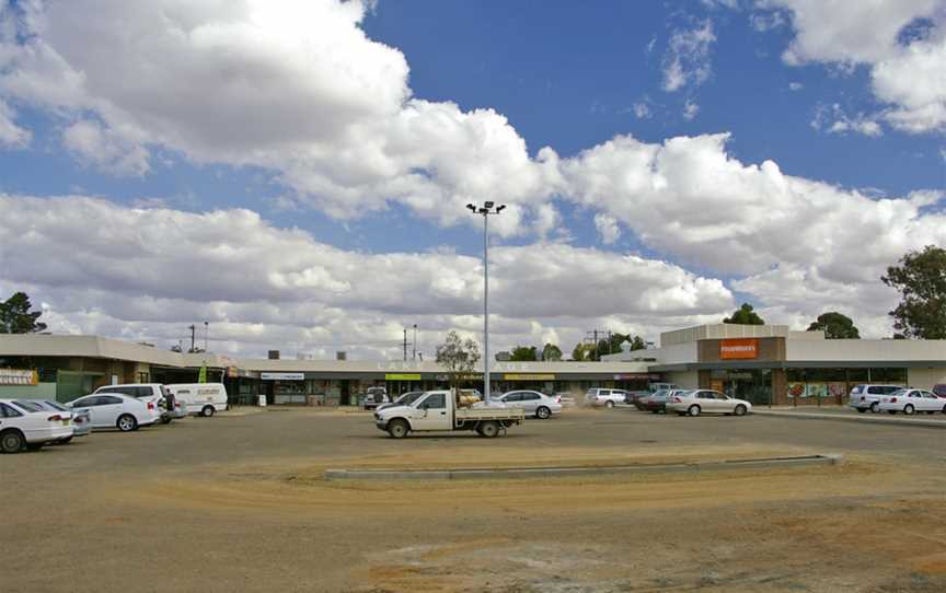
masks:
[(908, 252), (899, 266), (880, 280), (900, 291), (900, 304), (889, 315), (905, 338), (946, 338), (946, 251), (926, 245)]

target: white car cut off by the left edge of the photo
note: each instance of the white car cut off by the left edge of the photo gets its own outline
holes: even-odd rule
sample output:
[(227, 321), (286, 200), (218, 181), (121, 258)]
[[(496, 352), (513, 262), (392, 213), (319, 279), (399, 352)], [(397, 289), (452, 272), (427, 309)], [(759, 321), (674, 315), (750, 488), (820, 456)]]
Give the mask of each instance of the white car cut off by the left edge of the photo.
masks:
[(36, 451), (46, 443), (70, 437), (72, 426), (68, 414), (0, 399), (0, 451), (3, 453), (18, 453), (24, 449)]

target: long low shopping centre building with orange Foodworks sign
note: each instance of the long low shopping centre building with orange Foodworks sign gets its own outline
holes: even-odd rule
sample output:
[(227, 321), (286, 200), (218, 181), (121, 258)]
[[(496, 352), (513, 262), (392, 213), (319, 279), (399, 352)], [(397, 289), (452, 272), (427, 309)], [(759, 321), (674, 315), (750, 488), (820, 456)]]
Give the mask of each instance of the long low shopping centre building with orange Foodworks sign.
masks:
[[(115, 383), (188, 383), (201, 367), (233, 403), (349, 405), (369, 386), (391, 394), (446, 385), (431, 361), (234, 359), (181, 353), (94, 336), (0, 336), (0, 397), (61, 402)], [(660, 346), (599, 362), (499, 362), (492, 389), (584, 393), (645, 389), (657, 381), (715, 388), (755, 404), (838, 404), (858, 383), (946, 383), (946, 340), (829, 340), (780, 325), (705, 325), (660, 335)], [(473, 375), (470, 386), (481, 386)]]

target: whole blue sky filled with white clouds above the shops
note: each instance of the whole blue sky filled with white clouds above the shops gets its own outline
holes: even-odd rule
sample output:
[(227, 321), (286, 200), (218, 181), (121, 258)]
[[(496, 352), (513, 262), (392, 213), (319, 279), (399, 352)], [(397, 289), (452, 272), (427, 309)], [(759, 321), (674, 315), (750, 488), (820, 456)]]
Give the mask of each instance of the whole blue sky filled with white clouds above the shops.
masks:
[(57, 334), (432, 358), (493, 200), (494, 350), (743, 302), (880, 338), (946, 239), (946, 0), (0, 7), (0, 296)]

